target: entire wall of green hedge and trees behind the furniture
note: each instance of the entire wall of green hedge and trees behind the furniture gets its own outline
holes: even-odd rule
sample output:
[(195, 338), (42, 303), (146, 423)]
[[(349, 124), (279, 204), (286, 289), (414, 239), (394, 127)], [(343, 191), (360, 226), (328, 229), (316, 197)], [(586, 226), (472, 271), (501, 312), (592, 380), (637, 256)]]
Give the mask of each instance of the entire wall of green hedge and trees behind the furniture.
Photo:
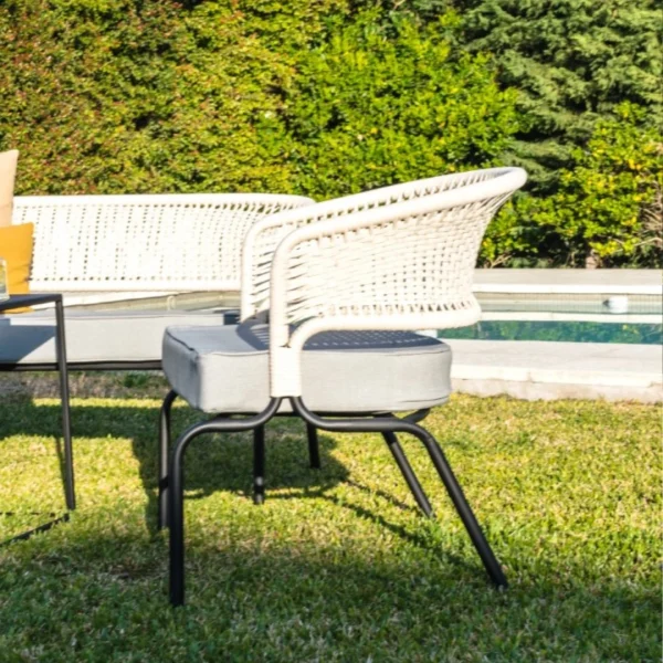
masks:
[(611, 2), (6, 0), (0, 149), (23, 194), (325, 199), (557, 146), (482, 264), (655, 266), (655, 11)]

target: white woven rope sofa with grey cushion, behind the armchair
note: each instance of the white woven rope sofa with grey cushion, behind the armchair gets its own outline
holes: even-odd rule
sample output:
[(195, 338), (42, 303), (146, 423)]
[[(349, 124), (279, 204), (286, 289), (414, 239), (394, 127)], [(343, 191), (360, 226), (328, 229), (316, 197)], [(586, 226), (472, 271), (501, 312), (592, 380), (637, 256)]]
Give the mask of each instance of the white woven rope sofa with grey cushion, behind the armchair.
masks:
[[(137, 293), (239, 292), (241, 251), (263, 217), (313, 202), (269, 193), (45, 196), (14, 198), (13, 223), (34, 223), (32, 292), (90, 299)], [(169, 325), (218, 325), (185, 311), (67, 307), (74, 369), (160, 368)], [(0, 315), (0, 370), (55, 368), (52, 309)]]

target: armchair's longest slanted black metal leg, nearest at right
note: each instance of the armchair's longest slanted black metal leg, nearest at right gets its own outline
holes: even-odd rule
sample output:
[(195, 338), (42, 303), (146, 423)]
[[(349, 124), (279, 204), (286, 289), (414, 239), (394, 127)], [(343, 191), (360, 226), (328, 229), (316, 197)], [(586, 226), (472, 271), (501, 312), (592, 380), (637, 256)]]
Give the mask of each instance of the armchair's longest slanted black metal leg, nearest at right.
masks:
[(435, 470), (438, 471), (438, 474), (440, 475), (440, 478), (442, 480), (442, 483), (444, 484), (444, 487), (446, 488), (446, 492), (449, 493), (456, 512), (461, 516), (461, 520), (463, 522), (463, 525), (465, 526), (465, 529), (467, 530), (467, 534), (470, 535), (470, 538), (472, 539), (472, 543), (474, 544), (474, 547), (476, 548), (476, 551), (478, 552), (478, 556), (486, 568), (486, 571), (488, 572), (488, 576), (491, 576), (493, 582), (497, 587), (506, 588), (508, 586), (506, 576), (504, 575), (497, 558), (488, 545), (488, 541), (486, 540), (486, 537), (484, 536), (484, 533), (482, 532), (481, 526), (477, 523), (476, 517), (474, 516), (474, 513), (467, 503), (467, 499), (465, 498), (463, 490), (461, 488), (449, 462), (446, 461), (446, 457), (444, 456), (444, 453), (440, 449), (438, 441), (425, 429), (419, 425), (415, 428), (418, 430), (413, 431), (413, 433), (425, 445), (429, 455), (431, 456), (431, 461), (433, 462), (433, 465), (435, 466)]

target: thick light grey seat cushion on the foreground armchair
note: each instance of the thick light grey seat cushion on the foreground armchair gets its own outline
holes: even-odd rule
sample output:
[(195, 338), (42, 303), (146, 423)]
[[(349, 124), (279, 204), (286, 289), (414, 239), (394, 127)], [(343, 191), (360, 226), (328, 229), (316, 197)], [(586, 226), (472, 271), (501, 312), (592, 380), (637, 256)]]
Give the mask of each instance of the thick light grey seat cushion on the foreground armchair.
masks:
[[(203, 412), (260, 412), (270, 400), (269, 327), (169, 327), (164, 372)], [(302, 359), (303, 399), (317, 412), (381, 412), (430, 408), (451, 391), (451, 349), (406, 332), (326, 332)], [(290, 411), (290, 401), (283, 404)]]

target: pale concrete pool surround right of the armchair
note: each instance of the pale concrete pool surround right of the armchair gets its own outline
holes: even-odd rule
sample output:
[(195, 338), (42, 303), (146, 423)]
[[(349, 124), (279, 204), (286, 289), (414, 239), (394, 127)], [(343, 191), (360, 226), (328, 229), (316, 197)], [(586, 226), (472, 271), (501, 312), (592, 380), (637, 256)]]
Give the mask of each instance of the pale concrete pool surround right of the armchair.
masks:
[[(663, 296), (662, 270), (476, 270), (475, 293), (486, 296), (546, 297)], [(567, 314), (591, 322), (653, 322), (654, 313)], [(486, 312), (486, 319), (505, 317)], [(506, 319), (552, 319), (545, 313), (503, 314)], [(557, 314), (564, 315), (564, 314)], [(559, 319), (559, 318), (558, 318)], [(569, 317), (566, 317), (569, 319)], [(444, 337), (444, 333), (441, 333)], [(448, 340), (454, 358), (456, 391), (508, 394), (527, 400), (606, 399), (663, 402), (663, 348), (660, 345), (559, 343), (533, 340)]]

